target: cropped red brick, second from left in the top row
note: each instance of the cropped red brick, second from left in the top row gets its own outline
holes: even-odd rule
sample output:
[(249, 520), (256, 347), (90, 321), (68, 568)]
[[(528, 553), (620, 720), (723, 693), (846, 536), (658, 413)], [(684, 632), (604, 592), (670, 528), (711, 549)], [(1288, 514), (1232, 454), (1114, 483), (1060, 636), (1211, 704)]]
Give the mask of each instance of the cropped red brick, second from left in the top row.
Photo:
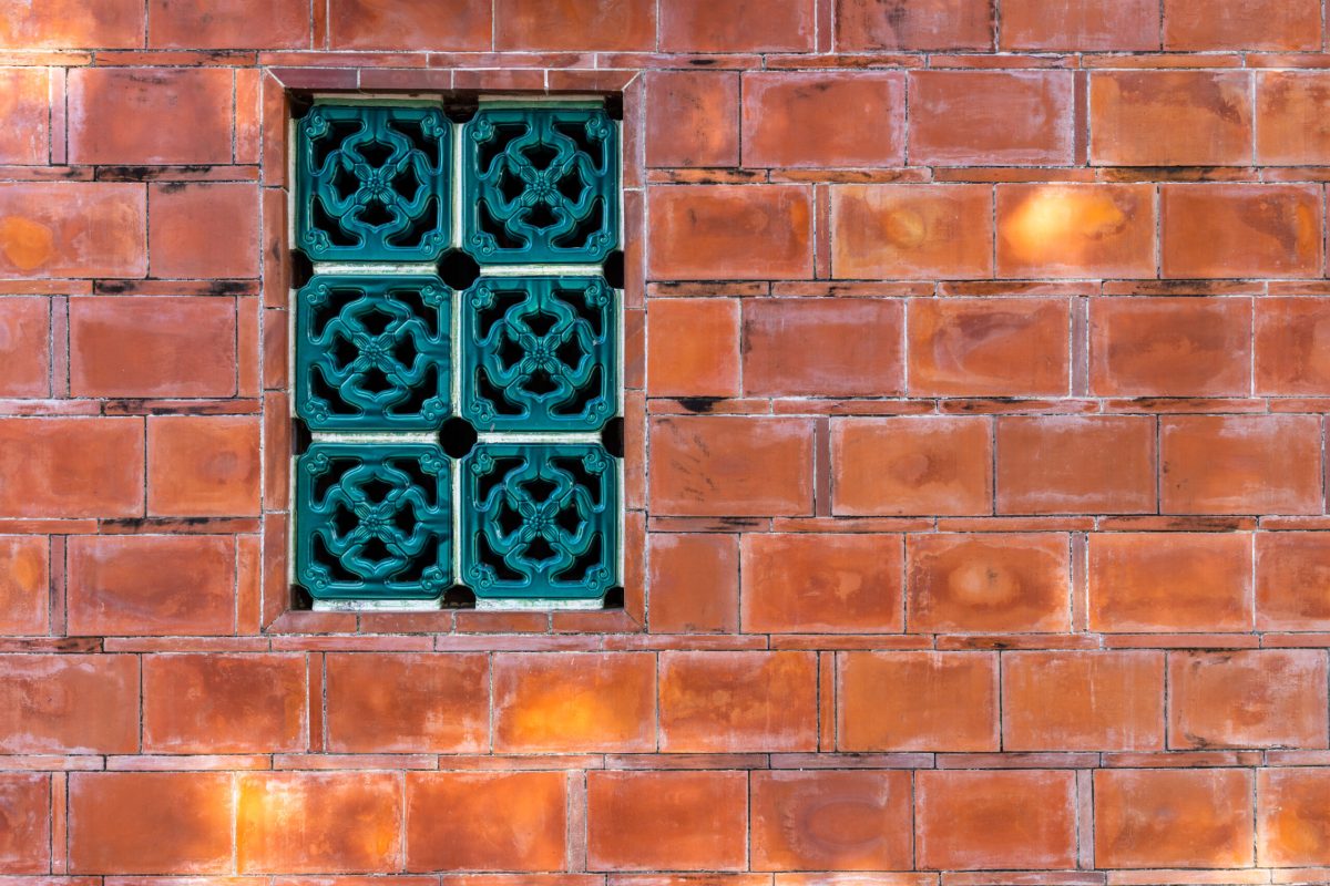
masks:
[(162, 49), (307, 49), (305, 0), (150, 0), (148, 45)]

